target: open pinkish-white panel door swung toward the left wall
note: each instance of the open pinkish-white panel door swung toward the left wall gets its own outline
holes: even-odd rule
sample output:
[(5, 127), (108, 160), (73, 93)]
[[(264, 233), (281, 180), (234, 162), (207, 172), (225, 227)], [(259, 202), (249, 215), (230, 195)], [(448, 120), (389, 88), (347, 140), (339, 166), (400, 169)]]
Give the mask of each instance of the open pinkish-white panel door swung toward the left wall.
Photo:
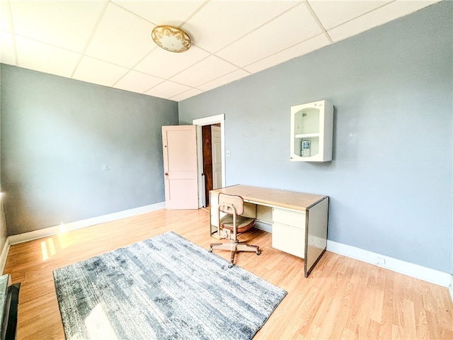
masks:
[(166, 209), (198, 209), (196, 125), (162, 127)]

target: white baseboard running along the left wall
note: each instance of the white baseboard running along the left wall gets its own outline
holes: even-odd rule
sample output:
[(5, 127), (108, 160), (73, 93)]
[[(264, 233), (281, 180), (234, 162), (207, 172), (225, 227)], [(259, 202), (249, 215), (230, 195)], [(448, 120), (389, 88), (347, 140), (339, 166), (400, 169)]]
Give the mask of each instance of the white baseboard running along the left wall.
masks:
[[(60, 232), (69, 232), (70, 230), (80, 229), (80, 228), (84, 228), (84, 227), (90, 227), (91, 225), (98, 225), (100, 223), (110, 222), (113, 220), (118, 220), (120, 218), (139, 215), (139, 214), (143, 214), (144, 212), (151, 212), (151, 211), (159, 210), (159, 209), (163, 209), (163, 208), (165, 208), (165, 202), (151, 204), (151, 205), (144, 205), (143, 207), (134, 208), (134, 209), (130, 209), (130, 210), (123, 210), (120, 212), (113, 212), (112, 214), (108, 214), (108, 215), (91, 217), (86, 220), (62, 223), (61, 225), (56, 225), (54, 227), (47, 227), (44, 229), (33, 230), (33, 232), (24, 232), (23, 234), (8, 236), (6, 243), (9, 246), (9, 244), (18, 244), (18, 243), (22, 243), (22, 242), (27, 242), (27, 241), (31, 241), (32, 239), (40, 239), (41, 237), (52, 236), (55, 234), (59, 234)], [(2, 255), (3, 255), (3, 253), (2, 253)], [(6, 252), (6, 256), (8, 256), (8, 252)], [(6, 258), (5, 258), (5, 261), (6, 261)]]

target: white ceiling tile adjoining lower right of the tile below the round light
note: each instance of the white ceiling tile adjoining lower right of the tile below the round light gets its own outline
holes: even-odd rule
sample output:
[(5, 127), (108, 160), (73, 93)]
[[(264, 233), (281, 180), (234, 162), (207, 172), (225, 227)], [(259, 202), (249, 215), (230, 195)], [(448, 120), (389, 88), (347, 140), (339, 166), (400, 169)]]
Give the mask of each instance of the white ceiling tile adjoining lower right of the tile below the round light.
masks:
[(238, 67), (235, 67), (229, 62), (225, 62), (219, 57), (211, 55), (210, 57), (207, 57), (201, 62), (193, 65), (193, 67), (176, 74), (175, 77), (171, 77), (171, 80), (180, 84), (197, 87), (198, 85), (207, 83), (207, 81), (211, 81), (218, 77), (222, 77), (224, 74), (233, 72), (236, 69), (238, 69)]

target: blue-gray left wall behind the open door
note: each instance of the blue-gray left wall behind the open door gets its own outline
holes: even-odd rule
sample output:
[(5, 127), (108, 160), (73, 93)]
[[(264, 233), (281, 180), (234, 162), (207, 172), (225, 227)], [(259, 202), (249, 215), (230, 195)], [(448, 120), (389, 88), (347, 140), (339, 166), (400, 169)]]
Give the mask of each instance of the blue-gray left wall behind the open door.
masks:
[(164, 202), (178, 104), (1, 64), (8, 234)]

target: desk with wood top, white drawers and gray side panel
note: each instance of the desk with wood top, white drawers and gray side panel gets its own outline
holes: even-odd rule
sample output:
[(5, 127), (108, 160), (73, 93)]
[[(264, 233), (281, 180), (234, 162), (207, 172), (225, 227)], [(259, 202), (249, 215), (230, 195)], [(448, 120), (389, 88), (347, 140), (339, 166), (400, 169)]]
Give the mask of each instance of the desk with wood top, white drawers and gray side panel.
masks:
[(219, 193), (239, 195), (243, 215), (272, 226), (272, 246), (304, 259), (305, 277), (326, 251), (328, 196), (255, 186), (229, 186), (210, 191), (210, 234), (217, 237)]

